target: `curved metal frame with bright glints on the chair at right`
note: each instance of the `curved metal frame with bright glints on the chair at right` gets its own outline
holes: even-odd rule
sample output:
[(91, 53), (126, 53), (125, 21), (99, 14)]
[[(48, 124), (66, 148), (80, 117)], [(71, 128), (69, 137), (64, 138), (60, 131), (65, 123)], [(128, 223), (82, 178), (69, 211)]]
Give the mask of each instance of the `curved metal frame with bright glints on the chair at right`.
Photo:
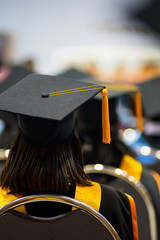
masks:
[(126, 183), (128, 183), (130, 186), (132, 186), (141, 196), (143, 199), (148, 216), (149, 216), (149, 226), (150, 226), (150, 233), (151, 233), (151, 239), (157, 240), (158, 239), (158, 229), (157, 229), (157, 223), (156, 223), (156, 212), (155, 208), (153, 206), (151, 197), (145, 188), (145, 186), (136, 180), (133, 176), (130, 176), (127, 174), (126, 171), (121, 170), (120, 168), (115, 168), (103, 164), (90, 164), (85, 165), (84, 171), (86, 174), (106, 174), (115, 178), (119, 178)]

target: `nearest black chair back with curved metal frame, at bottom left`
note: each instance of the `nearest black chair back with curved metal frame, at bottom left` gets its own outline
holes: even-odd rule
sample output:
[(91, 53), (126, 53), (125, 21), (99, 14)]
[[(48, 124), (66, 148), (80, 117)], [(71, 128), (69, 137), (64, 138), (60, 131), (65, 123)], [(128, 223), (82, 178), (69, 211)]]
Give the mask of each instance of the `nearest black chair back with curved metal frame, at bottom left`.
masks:
[[(41, 201), (74, 207), (56, 217), (35, 217), (15, 211), (16, 207)], [(32, 195), (0, 208), (0, 239), (3, 240), (120, 240), (112, 225), (97, 211), (75, 199), (57, 195)]]

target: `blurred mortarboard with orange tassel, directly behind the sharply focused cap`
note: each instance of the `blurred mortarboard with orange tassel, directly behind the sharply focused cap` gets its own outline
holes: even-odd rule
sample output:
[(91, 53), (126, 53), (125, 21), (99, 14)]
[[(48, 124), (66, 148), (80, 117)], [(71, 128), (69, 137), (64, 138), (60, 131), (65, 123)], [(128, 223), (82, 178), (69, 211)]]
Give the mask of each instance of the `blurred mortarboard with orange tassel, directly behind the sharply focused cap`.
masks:
[[(129, 95), (129, 94), (134, 94), (134, 102), (135, 102), (135, 112), (136, 112), (136, 116), (137, 116), (137, 128), (142, 131), (143, 130), (143, 119), (142, 119), (142, 109), (141, 109), (141, 94), (139, 92), (139, 89), (136, 85), (133, 84), (123, 84), (123, 83), (119, 83), (119, 84), (112, 84), (112, 83), (106, 83), (106, 82), (102, 82), (96, 78), (94, 78), (93, 76), (89, 75), (89, 74), (85, 74), (77, 69), (69, 69), (66, 72), (61, 73), (61, 77), (68, 77), (70, 76), (71, 78), (74, 78), (75, 80), (80, 80), (82, 82), (88, 83), (88, 84), (102, 84), (106, 86), (106, 89), (108, 90), (107, 96), (109, 99), (109, 118), (110, 118), (110, 122), (111, 124), (116, 121), (117, 117), (116, 117), (116, 111), (115, 111), (115, 102), (116, 99), (119, 98), (120, 96), (123, 95)], [(101, 105), (101, 103), (97, 103), (96, 100), (102, 100), (102, 96), (101, 94), (97, 94), (93, 99), (91, 99), (91, 101), (88, 101), (88, 103), (86, 104), (86, 106), (82, 106), (83, 110), (82, 112), (85, 112), (86, 116), (84, 116), (84, 119), (91, 119), (91, 116), (93, 116), (93, 112), (94, 112), (94, 106), (95, 104), (97, 105), (97, 109), (98, 109), (98, 105)], [(86, 111), (85, 111), (86, 109)], [(88, 112), (88, 114), (87, 114)], [(89, 116), (90, 115), (90, 116)], [(96, 119), (98, 119), (99, 116), (95, 116), (94, 120), (96, 122)], [(94, 121), (93, 120), (93, 121)]]

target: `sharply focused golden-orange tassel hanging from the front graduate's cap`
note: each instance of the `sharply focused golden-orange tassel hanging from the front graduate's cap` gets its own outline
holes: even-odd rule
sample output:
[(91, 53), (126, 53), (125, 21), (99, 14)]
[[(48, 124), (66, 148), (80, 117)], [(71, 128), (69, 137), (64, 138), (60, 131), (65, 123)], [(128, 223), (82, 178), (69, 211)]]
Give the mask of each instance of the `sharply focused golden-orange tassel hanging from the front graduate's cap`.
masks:
[(107, 89), (101, 91), (102, 94), (102, 132), (103, 132), (103, 142), (111, 142), (111, 133), (110, 133), (110, 122), (109, 122), (109, 105), (108, 105), (108, 96)]

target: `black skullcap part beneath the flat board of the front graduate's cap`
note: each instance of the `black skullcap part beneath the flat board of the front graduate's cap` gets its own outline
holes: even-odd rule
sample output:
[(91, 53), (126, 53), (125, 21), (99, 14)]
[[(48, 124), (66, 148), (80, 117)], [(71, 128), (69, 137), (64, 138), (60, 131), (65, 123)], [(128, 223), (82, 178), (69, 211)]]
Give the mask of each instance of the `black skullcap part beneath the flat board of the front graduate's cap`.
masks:
[(74, 131), (74, 113), (62, 121), (18, 115), (18, 125), (26, 141), (36, 146), (63, 143)]

